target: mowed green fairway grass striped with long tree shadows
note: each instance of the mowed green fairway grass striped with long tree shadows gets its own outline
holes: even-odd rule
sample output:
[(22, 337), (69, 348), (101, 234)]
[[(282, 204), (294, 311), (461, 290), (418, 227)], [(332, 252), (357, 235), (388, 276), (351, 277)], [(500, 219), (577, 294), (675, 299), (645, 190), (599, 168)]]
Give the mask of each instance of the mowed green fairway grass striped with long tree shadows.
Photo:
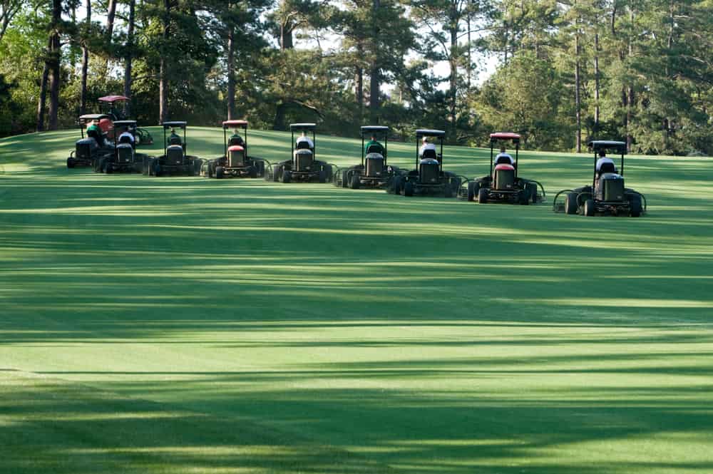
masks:
[(77, 135), (0, 140), (1, 472), (713, 471), (713, 159), (632, 157), (649, 214), (585, 218), (588, 154), (522, 153), (525, 207), (68, 170)]

